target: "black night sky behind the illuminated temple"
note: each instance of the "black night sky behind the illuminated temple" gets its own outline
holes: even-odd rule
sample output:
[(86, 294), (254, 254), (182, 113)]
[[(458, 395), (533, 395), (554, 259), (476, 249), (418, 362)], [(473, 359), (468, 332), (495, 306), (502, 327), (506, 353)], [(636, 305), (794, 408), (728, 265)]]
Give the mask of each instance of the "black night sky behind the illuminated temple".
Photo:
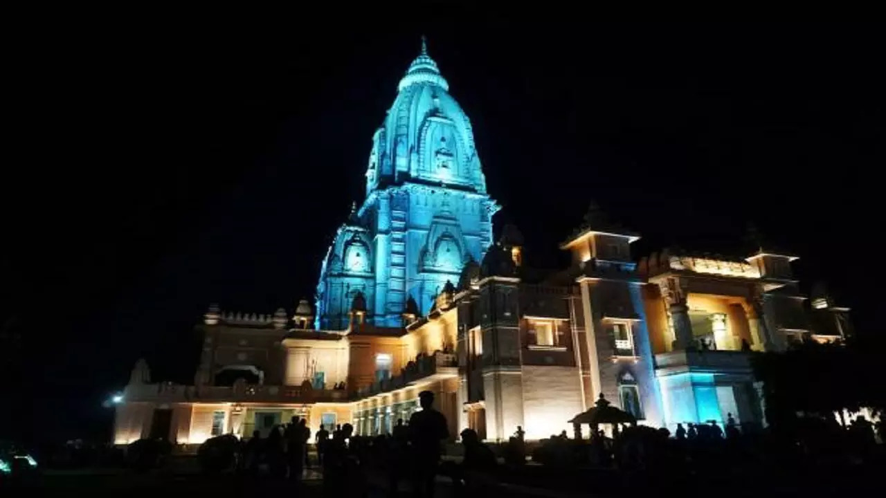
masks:
[(523, 230), (529, 264), (564, 264), (557, 243), (592, 198), (641, 233), (637, 254), (740, 254), (753, 222), (801, 257), (806, 289), (826, 280), (880, 332), (882, 26), (423, 19), (22, 41), (0, 310), (33, 409), (0, 431), (107, 434), (101, 401), (140, 356), (192, 380), (210, 302), (272, 313), (311, 296), (423, 32), (473, 123), (496, 227)]

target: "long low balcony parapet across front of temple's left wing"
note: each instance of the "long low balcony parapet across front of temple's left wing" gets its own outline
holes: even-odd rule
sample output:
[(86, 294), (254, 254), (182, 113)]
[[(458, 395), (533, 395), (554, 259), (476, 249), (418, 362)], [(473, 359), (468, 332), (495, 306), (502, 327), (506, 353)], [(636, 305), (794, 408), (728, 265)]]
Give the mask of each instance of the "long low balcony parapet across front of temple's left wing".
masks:
[(300, 385), (127, 385), (124, 398), (128, 402), (158, 403), (313, 403), (346, 402), (347, 392), (332, 389), (305, 389)]

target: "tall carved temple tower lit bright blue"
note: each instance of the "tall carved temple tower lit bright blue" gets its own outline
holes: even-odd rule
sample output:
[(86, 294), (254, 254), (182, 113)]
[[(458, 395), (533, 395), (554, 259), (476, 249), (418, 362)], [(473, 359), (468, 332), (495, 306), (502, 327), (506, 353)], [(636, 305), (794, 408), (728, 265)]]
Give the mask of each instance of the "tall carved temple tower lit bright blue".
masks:
[(408, 300), (427, 313), (492, 243), (499, 206), (486, 194), (470, 120), (448, 89), (423, 38), (372, 136), (366, 198), (323, 259), (318, 328), (346, 328), (358, 293), (377, 326), (400, 326)]

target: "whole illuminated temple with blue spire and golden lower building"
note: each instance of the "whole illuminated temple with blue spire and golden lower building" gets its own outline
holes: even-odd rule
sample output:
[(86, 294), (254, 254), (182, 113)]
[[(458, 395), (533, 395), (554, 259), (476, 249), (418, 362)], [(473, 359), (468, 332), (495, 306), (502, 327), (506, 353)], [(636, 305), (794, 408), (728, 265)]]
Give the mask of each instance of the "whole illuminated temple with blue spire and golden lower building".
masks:
[(290, 416), (392, 431), (436, 393), (455, 437), (563, 430), (601, 395), (641, 424), (731, 414), (766, 424), (756, 352), (851, 334), (849, 310), (797, 257), (758, 246), (740, 257), (664, 250), (639, 260), (640, 234), (591, 206), (561, 245), (571, 264), (532, 268), (486, 185), (470, 121), (422, 47), (372, 139), (366, 198), (323, 259), (317, 298), (256, 315), (210, 306), (193, 385), (156, 382), (136, 363), (115, 442), (165, 438), (187, 450), (215, 435), (267, 434)]

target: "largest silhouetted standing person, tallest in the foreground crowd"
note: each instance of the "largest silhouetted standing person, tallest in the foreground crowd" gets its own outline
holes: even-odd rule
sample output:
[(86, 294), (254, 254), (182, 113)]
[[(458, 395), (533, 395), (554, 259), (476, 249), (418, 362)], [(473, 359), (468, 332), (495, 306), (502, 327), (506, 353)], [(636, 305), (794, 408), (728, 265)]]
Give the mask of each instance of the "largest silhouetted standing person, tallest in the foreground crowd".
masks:
[(437, 477), (437, 464), (440, 459), (440, 440), (449, 437), (446, 417), (433, 408), (434, 393), (422, 391), (418, 394), (422, 411), (409, 418), (409, 439), (412, 443), (414, 463), (413, 473), (416, 496), (433, 498), (434, 479)]

